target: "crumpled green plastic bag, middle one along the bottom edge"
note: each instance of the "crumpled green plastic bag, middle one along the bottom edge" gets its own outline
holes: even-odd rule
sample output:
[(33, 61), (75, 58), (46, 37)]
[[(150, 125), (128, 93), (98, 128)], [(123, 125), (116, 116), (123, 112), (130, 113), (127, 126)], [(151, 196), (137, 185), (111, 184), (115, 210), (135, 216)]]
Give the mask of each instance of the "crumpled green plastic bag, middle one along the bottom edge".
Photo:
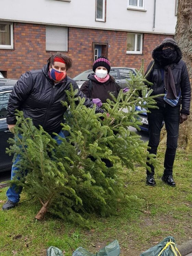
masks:
[(117, 240), (108, 244), (104, 248), (100, 249), (98, 253), (93, 254), (86, 251), (84, 248), (77, 248), (72, 256), (119, 256), (120, 255), (120, 247)]

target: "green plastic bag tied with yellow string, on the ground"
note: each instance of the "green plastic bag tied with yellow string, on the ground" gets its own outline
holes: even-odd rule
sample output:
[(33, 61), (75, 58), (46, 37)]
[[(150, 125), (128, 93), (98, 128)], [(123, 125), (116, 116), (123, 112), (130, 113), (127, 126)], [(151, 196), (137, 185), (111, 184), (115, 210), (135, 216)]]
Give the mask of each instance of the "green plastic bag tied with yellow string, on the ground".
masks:
[(177, 249), (175, 239), (172, 236), (167, 236), (163, 241), (157, 245), (149, 248), (140, 256), (181, 256)]

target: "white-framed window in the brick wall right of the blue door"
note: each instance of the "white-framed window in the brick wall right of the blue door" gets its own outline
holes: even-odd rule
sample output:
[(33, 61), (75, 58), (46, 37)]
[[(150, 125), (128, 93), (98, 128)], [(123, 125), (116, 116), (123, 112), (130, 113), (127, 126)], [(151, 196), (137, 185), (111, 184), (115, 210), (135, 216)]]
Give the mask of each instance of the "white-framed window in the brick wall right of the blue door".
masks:
[(142, 54), (142, 34), (127, 34), (127, 54)]

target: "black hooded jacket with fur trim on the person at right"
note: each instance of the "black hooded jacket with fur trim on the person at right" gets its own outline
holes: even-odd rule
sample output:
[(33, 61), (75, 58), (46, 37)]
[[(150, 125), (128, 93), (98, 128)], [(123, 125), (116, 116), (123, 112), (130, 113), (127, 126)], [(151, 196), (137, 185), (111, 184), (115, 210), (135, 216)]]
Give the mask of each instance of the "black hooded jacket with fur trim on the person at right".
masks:
[[(167, 40), (166, 40), (167, 39)], [(164, 77), (163, 77), (163, 67), (160, 66), (159, 60), (158, 60), (158, 51), (160, 48), (163, 47), (166, 43), (171, 43), (176, 47), (177, 53), (178, 53), (178, 62), (174, 63), (171, 68), (174, 80), (175, 80), (175, 87), (177, 95), (179, 95), (179, 92), (181, 90), (181, 98), (178, 102), (178, 105), (182, 104), (181, 113), (189, 115), (190, 110), (190, 101), (191, 101), (191, 86), (189, 81), (189, 75), (186, 63), (184, 60), (181, 59), (182, 54), (181, 50), (176, 44), (176, 42), (172, 38), (166, 38), (160, 45), (158, 45), (152, 53), (152, 57), (154, 58), (153, 61), (149, 64), (146, 74), (148, 70), (152, 67), (151, 71), (148, 73), (146, 79), (149, 82), (152, 82), (153, 85), (151, 89), (153, 89), (153, 93), (151, 95), (156, 94), (164, 94), (165, 93), (165, 85), (164, 85)], [(162, 97), (155, 98), (157, 102), (157, 106), (164, 107), (165, 101)]]

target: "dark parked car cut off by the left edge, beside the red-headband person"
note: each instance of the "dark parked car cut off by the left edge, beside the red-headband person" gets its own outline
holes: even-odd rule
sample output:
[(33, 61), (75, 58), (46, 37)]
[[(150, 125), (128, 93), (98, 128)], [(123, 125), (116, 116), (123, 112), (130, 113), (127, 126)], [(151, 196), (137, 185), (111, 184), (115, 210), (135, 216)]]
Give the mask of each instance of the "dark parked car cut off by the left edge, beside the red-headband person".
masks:
[(0, 172), (10, 170), (12, 165), (13, 156), (5, 153), (5, 148), (9, 147), (7, 140), (13, 137), (6, 123), (6, 115), (9, 94), (16, 82), (14, 79), (0, 78)]

